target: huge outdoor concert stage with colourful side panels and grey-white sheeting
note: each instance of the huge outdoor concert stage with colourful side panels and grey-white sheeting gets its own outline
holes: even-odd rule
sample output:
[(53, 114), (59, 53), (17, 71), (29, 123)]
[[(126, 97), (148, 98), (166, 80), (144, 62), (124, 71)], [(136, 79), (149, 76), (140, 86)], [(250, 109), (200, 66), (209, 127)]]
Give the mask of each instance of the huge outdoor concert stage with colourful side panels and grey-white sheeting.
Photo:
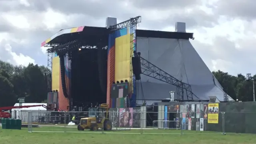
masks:
[[(178, 101), (208, 101), (208, 96), (225, 101), (222, 86), (189, 41), (193, 33), (137, 30), (138, 18), (110, 28), (64, 29), (42, 42), (51, 47), (48, 66), (60, 110), (82, 103), (112, 105), (112, 84), (121, 80), (129, 83), (130, 107), (160, 102), (170, 91)], [(132, 71), (134, 51), (141, 53), (141, 80)]]

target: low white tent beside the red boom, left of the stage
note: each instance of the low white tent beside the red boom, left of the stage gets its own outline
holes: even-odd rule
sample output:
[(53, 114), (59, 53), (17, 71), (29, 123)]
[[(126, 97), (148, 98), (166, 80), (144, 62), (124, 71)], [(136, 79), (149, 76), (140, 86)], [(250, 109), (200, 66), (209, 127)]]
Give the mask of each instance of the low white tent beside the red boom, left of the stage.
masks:
[[(22, 106), (32, 106), (32, 105), (47, 105), (44, 103), (23, 103)], [(14, 106), (19, 106), (19, 103), (14, 104)], [(32, 111), (33, 122), (37, 121), (38, 116), (45, 116), (46, 108), (42, 106), (30, 107), (30, 108), (14, 108), (12, 109), (12, 118), (19, 118), (22, 122), (28, 122), (28, 112)]]

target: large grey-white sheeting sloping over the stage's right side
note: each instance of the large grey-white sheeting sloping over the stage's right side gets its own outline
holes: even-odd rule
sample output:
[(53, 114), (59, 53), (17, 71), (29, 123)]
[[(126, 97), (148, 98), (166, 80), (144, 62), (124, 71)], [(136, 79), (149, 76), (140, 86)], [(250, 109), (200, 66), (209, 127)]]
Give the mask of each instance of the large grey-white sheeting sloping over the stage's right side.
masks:
[[(192, 92), (198, 97), (194, 100), (209, 100), (209, 96), (216, 96), (224, 101), (222, 86), (189, 40), (137, 37), (137, 51), (141, 52), (141, 57), (171, 76), (190, 84)], [(141, 81), (144, 98), (139, 93), (137, 99), (162, 100), (170, 98), (170, 91), (176, 91), (176, 86), (148, 76), (141, 75)], [(234, 101), (230, 96), (229, 100)]]

